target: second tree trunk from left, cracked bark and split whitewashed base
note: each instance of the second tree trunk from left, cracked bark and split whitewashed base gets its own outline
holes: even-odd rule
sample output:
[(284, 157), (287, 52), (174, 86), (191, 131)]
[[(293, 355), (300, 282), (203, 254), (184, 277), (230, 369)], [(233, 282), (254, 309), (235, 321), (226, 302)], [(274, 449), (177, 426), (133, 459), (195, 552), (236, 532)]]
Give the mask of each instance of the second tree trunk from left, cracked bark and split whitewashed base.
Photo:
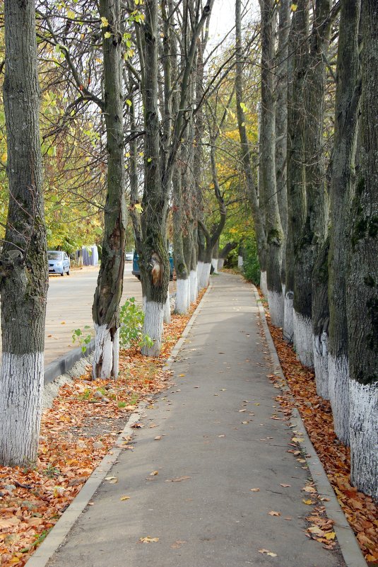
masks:
[[(124, 198), (124, 127), (122, 32), (119, 0), (101, 0), (107, 131), (107, 200), (98, 284), (93, 300), (95, 353), (93, 379), (117, 378), (119, 370), (119, 302), (124, 282), (126, 203)], [(110, 37), (106, 37), (110, 34)]]

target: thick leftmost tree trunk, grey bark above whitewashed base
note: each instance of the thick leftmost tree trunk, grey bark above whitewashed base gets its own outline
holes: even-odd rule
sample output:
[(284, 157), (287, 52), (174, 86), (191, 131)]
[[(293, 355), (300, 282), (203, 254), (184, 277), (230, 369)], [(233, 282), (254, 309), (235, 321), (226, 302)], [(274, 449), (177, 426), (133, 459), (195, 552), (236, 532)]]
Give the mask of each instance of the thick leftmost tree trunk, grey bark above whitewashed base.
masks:
[(0, 256), (0, 464), (37, 459), (48, 287), (35, 3), (5, 1), (4, 109), (9, 185)]

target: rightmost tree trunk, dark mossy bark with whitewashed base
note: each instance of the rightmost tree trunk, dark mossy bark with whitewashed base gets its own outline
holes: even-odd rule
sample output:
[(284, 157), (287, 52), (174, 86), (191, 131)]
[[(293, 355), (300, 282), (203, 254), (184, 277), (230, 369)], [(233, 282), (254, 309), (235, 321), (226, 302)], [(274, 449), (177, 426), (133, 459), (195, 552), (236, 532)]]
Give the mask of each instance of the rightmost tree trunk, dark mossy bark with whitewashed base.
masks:
[(353, 203), (347, 313), (351, 480), (378, 500), (378, 6), (362, 2), (360, 172)]

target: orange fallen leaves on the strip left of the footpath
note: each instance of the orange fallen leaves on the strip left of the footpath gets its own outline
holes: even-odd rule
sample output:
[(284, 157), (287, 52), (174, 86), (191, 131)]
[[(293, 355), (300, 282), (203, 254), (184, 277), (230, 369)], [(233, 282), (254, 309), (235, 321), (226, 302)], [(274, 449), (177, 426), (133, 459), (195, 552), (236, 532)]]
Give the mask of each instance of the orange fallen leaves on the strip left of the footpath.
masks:
[[(117, 381), (93, 382), (88, 367), (80, 379), (61, 386), (42, 416), (35, 466), (0, 466), (1, 567), (25, 565), (114, 445), (138, 401), (167, 387), (170, 372), (163, 367), (202, 295), (187, 316), (172, 315), (159, 358), (146, 359), (131, 348), (120, 353)], [(129, 440), (125, 449), (132, 448)]]

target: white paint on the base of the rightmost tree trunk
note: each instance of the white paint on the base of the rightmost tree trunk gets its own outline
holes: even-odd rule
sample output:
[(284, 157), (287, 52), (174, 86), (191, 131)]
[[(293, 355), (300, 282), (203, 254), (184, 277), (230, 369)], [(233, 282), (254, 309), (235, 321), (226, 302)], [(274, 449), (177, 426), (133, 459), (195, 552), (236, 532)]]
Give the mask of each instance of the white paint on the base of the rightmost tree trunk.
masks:
[(349, 381), (350, 479), (378, 501), (378, 385)]

